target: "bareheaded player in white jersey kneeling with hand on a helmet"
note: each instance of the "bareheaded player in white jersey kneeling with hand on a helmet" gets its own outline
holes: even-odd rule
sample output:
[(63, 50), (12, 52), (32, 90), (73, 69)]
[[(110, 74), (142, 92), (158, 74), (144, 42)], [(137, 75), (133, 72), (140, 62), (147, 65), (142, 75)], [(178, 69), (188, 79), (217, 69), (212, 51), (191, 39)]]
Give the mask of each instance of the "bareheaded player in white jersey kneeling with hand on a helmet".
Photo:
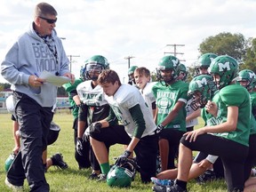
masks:
[[(106, 180), (110, 169), (107, 147), (119, 143), (128, 147), (118, 160), (122, 162), (134, 150), (141, 180), (149, 182), (150, 177), (156, 176), (158, 135), (145, 100), (136, 87), (121, 84), (114, 70), (104, 70), (98, 82), (110, 106), (108, 117), (89, 127), (92, 148), (102, 172), (100, 179)], [(117, 121), (123, 125), (115, 125)]]

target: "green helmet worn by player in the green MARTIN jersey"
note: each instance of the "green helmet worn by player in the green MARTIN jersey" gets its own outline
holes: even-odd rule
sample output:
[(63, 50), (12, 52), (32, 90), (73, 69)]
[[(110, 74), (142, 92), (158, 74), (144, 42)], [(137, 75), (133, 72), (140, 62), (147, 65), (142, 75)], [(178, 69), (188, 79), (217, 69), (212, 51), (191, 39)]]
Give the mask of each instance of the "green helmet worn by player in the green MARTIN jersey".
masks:
[[(159, 81), (164, 81), (165, 84), (170, 84), (180, 74), (180, 60), (172, 55), (164, 56), (158, 63), (156, 68), (156, 77)], [(171, 71), (170, 75), (162, 75), (162, 71)]]

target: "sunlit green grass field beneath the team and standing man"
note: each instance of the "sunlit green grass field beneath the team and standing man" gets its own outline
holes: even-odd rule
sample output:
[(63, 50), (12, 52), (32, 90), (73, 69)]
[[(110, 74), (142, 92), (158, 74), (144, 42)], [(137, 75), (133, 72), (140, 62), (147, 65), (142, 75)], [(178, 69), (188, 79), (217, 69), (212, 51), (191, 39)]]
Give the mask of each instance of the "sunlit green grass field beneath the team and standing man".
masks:
[[(51, 167), (45, 177), (50, 184), (52, 192), (92, 192), (92, 191), (104, 191), (104, 192), (132, 192), (132, 191), (152, 191), (152, 184), (142, 184), (140, 182), (140, 174), (136, 175), (135, 180), (132, 182), (131, 188), (109, 188), (106, 183), (99, 183), (93, 180), (87, 180), (91, 170), (78, 170), (76, 160), (74, 157), (75, 145), (73, 140), (73, 130), (71, 128), (73, 123), (73, 116), (68, 113), (57, 113), (54, 116), (54, 122), (60, 125), (61, 131), (58, 140), (48, 147), (48, 156), (52, 156), (56, 152), (60, 152), (64, 156), (64, 160), (68, 163), (69, 168), (61, 171), (55, 167)], [(196, 127), (203, 125), (202, 120)], [(10, 114), (0, 114), (0, 191), (12, 191), (5, 187), (4, 179), (4, 161), (12, 152), (14, 141), (12, 139), (12, 120)], [(119, 156), (124, 151), (124, 147), (121, 145), (115, 145), (110, 148), (110, 163), (113, 164), (113, 157)], [(29, 191), (28, 182), (25, 181), (25, 191)], [(195, 181), (188, 183), (190, 192), (222, 192), (227, 191), (224, 180), (212, 181), (204, 185), (198, 185)]]

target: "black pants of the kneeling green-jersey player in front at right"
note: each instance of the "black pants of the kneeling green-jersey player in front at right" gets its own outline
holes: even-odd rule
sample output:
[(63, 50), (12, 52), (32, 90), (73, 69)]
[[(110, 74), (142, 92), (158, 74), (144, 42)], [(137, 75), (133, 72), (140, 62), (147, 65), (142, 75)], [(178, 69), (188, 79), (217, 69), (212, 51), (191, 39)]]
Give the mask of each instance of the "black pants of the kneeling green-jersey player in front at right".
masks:
[(220, 156), (228, 191), (244, 190), (244, 163), (248, 155), (248, 147), (212, 134), (199, 135), (193, 142), (189, 142), (185, 138), (186, 136), (182, 137), (180, 142), (187, 148)]

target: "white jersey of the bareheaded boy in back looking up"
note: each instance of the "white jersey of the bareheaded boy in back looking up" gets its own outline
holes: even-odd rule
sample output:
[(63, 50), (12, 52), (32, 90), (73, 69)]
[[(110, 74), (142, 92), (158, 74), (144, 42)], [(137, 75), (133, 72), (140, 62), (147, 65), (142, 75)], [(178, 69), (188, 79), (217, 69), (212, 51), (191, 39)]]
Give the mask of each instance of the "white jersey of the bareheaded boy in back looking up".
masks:
[(146, 101), (149, 110), (151, 111), (151, 114), (153, 116), (153, 109), (152, 109), (152, 103), (156, 101), (156, 98), (153, 94), (153, 92), (151, 92), (152, 87), (156, 84), (157, 82), (150, 82), (148, 84), (146, 84), (146, 86), (144, 87), (144, 89), (140, 89), (140, 93), (142, 95), (142, 97), (144, 98), (144, 100)]

